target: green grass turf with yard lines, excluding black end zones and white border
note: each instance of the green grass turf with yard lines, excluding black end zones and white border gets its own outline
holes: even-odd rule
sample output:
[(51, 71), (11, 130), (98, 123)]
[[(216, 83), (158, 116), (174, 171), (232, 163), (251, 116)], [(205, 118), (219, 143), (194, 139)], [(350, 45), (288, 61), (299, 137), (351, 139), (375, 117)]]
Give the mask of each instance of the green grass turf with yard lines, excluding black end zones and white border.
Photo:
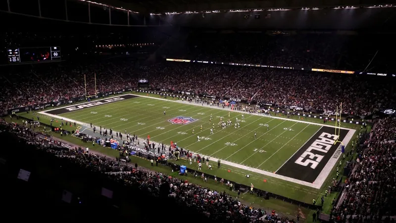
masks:
[[(146, 95), (146, 94), (141, 94)], [(152, 95), (153, 97), (159, 97)], [(295, 182), (286, 181), (277, 177), (261, 174), (249, 169), (236, 167), (235, 164), (245, 167), (253, 167), (268, 172), (277, 171), (297, 150), (303, 146), (320, 128), (320, 125), (301, 123), (290, 120), (276, 119), (273, 117), (244, 114), (240, 127), (234, 128), (236, 118), (242, 119), (242, 113), (219, 110), (215, 107), (196, 106), (195, 103), (182, 104), (168, 100), (137, 97), (119, 102), (113, 102), (91, 108), (84, 108), (57, 115), (84, 123), (92, 123), (103, 128), (111, 128), (113, 131), (136, 134), (141, 138), (150, 135), (151, 141), (169, 144), (177, 142), (178, 146), (190, 151), (209, 156), (213, 159), (221, 159), (230, 162), (231, 165), (222, 164), (217, 168), (217, 163), (211, 161), (213, 170), (203, 166), (204, 172), (217, 175), (219, 178), (229, 179), (245, 185), (253, 183), (256, 188), (272, 192), (310, 203), (312, 199), (319, 200), (321, 191), (328, 185), (331, 176), (323, 183), (321, 188), (312, 188)], [(163, 114), (166, 111), (166, 115)], [(210, 134), (212, 124), (209, 118), (212, 115), (212, 124), (215, 124), (213, 134)], [(27, 117), (35, 117), (25, 114)], [(49, 121), (46, 115), (41, 116), (41, 121)], [(174, 124), (169, 119), (185, 116), (198, 119), (188, 124)], [(217, 126), (220, 117), (224, 120), (232, 120), (233, 125), (225, 129)], [(319, 122), (320, 119), (308, 118), (308, 121)], [(306, 119), (304, 119), (306, 120)], [(267, 126), (268, 124), (268, 130)], [(200, 130), (202, 125), (202, 130)], [(344, 127), (356, 128), (356, 126), (343, 123)], [(83, 129), (86, 126), (82, 126)], [(74, 127), (69, 130), (75, 130)], [(192, 130), (195, 130), (195, 134)], [(99, 129), (97, 129), (98, 131)], [(87, 131), (87, 132), (85, 132)], [(86, 128), (85, 133), (92, 134), (91, 128)], [(256, 133), (256, 138), (254, 137)], [(114, 134), (115, 135), (115, 134)], [(198, 136), (200, 141), (198, 142)], [(198, 169), (198, 165), (190, 165), (187, 160), (173, 161)], [(229, 171), (230, 170), (230, 171)], [(246, 177), (250, 174), (250, 178)], [(331, 172), (330, 175), (335, 174)], [(264, 182), (265, 180), (265, 182)]]

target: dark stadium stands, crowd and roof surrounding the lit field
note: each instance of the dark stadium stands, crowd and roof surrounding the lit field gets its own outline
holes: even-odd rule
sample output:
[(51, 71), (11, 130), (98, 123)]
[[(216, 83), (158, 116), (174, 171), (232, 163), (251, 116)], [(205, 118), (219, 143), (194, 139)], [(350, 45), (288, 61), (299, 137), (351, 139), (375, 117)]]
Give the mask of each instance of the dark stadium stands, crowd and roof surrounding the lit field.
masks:
[[(31, 122), (30, 128), (19, 123), (29, 110), (143, 89), (144, 77), (145, 90), (235, 101), (253, 113), (256, 105), (270, 105), (293, 114), (329, 111), (330, 118), (343, 103), (345, 120), (369, 122), (371, 130), (356, 125), (353, 171), (321, 221), (395, 222), (395, 2), (7, 0), (0, 2), (0, 19), (4, 218), (298, 223), (297, 216), (267, 218), (269, 212), (228, 192), (208, 195), (205, 185), (184, 186), (165, 173), (84, 154), (84, 147), (65, 148)], [(17, 49), (24, 55), (11, 61)], [(31, 172), (28, 181), (17, 178), (20, 169)], [(112, 199), (102, 188), (114, 192)], [(309, 216), (300, 222), (313, 222), (312, 213), (322, 210), (317, 200), (301, 205)]]

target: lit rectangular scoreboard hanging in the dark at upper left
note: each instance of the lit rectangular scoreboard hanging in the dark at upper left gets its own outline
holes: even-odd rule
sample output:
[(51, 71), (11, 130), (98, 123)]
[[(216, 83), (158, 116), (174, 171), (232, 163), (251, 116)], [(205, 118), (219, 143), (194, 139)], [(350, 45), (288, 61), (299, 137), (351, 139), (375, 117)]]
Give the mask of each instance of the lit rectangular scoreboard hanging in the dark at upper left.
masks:
[(8, 63), (35, 63), (61, 60), (60, 47), (8, 48)]

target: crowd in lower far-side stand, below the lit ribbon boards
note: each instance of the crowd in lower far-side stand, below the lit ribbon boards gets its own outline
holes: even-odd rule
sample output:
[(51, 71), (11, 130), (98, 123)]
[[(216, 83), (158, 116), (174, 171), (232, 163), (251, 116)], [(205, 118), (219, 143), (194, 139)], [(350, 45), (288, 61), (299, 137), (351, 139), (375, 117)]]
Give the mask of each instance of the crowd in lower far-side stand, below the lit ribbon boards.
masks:
[(355, 115), (369, 115), (394, 104), (396, 98), (395, 81), (377, 76), (220, 64), (159, 62), (135, 67), (133, 63), (121, 60), (90, 65), (40, 64), (20, 72), (27, 74), (5, 73), (1, 77), (3, 111), (86, 94), (136, 89), (140, 77), (148, 78), (154, 89), (194, 92), (280, 107), (297, 106), (307, 111), (335, 111), (343, 103), (343, 112)]

